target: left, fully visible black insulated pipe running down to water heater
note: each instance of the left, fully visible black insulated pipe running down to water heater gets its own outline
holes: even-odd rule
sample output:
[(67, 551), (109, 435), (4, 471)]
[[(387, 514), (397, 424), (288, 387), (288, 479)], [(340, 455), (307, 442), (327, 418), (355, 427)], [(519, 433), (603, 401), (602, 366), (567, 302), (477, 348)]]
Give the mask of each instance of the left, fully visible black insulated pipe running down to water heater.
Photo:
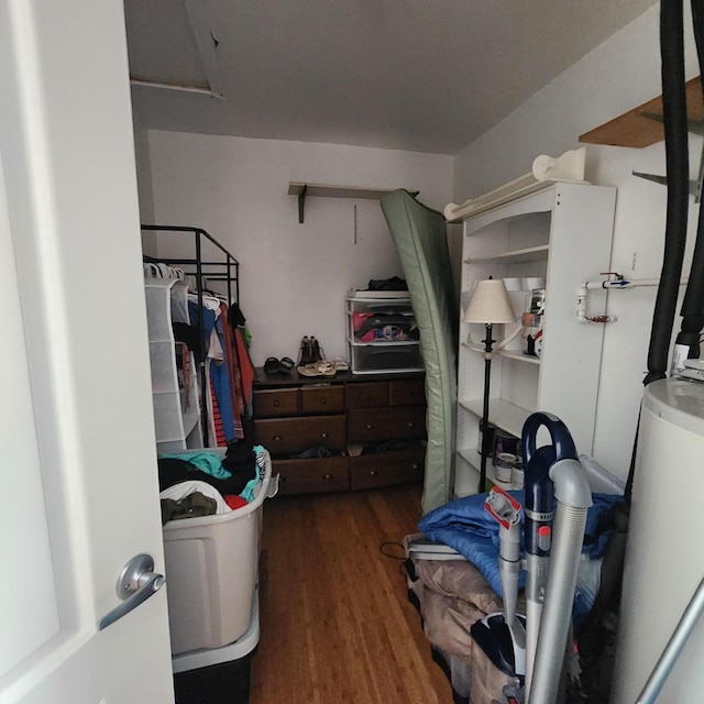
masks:
[(661, 0), (660, 2), (660, 54), (662, 57), (662, 111), (668, 174), (668, 210), (664, 256), (648, 349), (648, 374), (644, 380), (646, 385), (666, 377), (686, 244), (690, 165), (684, 91), (682, 0)]

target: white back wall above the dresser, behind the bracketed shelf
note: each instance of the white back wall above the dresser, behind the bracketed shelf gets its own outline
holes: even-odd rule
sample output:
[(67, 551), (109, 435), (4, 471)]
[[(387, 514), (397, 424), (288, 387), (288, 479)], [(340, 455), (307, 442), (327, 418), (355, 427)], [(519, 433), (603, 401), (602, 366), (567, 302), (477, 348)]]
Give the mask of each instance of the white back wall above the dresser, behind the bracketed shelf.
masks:
[(378, 201), (308, 198), (299, 224), (289, 180), (415, 189), (438, 210), (452, 195), (444, 155), (148, 131), (148, 161), (154, 221), (202, 228), (240, 261), (257, 366), (296, 361), (304, 334), (346, 358), (348, 290), (403, 276)]

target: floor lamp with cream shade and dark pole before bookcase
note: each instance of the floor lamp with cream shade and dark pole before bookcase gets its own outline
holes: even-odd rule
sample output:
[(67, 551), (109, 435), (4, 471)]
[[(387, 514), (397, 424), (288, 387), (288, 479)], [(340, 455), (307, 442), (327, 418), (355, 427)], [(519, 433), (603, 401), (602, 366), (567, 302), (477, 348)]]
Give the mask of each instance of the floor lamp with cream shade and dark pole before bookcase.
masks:
[(506, 286), (501, 278), (492, 278), (476, 282), (472, 298), (468, 304), (466, 310), (462, 318), (464, 322), (483, 323), (486, 328), (486, 339), (484, 342), (484, 405), (482, 408), (482, 448), (481, 448), (481, 466), (480, 466), (480, 484), (477, 492), (481, 494), (486, 491), (486, 459), (491, 453), (488, 446), (488, 398), (490, 385), (492, 381), (492, 346), (496, 340), (492, 340), (492, 328), (498, 323), (516, 322), (516, 314), (508, 298)]

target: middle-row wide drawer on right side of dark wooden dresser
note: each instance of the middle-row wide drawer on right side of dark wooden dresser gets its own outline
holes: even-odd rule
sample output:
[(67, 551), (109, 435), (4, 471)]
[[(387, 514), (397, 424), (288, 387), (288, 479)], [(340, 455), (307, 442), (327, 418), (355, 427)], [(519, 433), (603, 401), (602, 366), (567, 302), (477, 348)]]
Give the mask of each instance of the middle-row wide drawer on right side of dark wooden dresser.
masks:
[(350, 442), (422, 438), (425, 435), (425, 406), (353, 408), (348, 414)]

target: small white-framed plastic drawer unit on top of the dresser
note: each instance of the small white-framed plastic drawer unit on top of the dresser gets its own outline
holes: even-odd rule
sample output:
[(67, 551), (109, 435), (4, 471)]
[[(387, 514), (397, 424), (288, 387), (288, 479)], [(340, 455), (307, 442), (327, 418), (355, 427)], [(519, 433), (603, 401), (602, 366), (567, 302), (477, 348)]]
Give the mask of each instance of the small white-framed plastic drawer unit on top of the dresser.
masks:
[[(420, 343), (418, 340), (383, 340), (364, 342), (355, 337), (354, 314), (372, 314), (399, 317), (415, 322), (410, 296), (406, 292), (393, 292), (384, 296), (365, 295), (366, 292), (348, 296), (348, 350), (354, 374), (380, 374), (384, 372), (421, 372)], [(393, 324), (389, 322), (389, 324)]]

